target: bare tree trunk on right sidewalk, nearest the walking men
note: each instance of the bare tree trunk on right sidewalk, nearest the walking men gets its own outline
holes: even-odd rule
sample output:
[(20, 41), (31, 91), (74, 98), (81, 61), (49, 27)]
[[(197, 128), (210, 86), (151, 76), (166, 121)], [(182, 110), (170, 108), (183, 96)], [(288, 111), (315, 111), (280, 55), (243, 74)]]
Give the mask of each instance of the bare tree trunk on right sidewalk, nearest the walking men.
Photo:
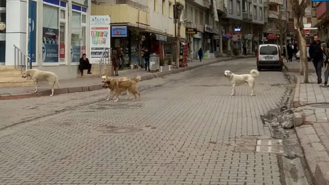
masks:
[(300, 75), (304, 75), (304, 83), (308, 83), (308, 62), (307, 62), (307, 51), (306, 51), (306, 36), (304, 31), (303, 17), (305, 9), (307, 7), (306, 0), (291, 0), (292, 11), (294, 12), (294, 23), (297, 29), (298, 49), (300, 56)]

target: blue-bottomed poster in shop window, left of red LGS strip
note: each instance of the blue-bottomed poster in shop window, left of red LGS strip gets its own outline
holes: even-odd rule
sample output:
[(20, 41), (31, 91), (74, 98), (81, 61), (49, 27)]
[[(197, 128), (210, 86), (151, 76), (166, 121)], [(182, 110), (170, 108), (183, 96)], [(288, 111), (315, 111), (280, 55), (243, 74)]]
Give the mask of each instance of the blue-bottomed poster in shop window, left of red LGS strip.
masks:
[(58, 62), (58, 29), (42, 28), (42, 59), (43, 62)]

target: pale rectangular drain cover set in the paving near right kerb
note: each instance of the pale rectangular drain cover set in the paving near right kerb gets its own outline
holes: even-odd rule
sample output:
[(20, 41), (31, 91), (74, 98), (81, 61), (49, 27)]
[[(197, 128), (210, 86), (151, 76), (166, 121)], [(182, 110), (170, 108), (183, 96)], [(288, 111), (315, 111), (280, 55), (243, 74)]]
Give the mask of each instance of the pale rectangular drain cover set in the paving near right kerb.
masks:
[(257, 152), (283, 153), (282, 139), (260, 139), (256, 145)]

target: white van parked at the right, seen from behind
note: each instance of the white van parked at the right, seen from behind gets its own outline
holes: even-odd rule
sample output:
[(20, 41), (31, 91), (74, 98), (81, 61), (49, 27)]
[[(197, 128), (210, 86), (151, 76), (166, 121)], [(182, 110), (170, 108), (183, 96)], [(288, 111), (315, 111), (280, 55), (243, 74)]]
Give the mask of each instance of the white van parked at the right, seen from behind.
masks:
[(259, 49), (257, 51), (257, 70), (261, 71), (262, 68), (277, 68), (282, 71), (283, 58), (280, 46), (276, 44), (259, 45)]

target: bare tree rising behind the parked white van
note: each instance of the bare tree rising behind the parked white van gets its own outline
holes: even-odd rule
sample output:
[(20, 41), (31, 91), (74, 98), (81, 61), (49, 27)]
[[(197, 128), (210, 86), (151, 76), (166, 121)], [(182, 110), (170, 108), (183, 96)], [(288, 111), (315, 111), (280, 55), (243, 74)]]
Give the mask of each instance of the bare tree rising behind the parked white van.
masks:
[[(270, 5), (271, 6), (271, 5)], [(280, 42), (280, 47), (283, 49), (284, 41), (287, 41), (287, 12), (284, 12), (281, 10), (281, 5), (279, 6), (279, 11), (278, 11), (278, 18), (273, 19), (274, 23), (276, 25), (276, 28), (279, 30), (279, 42)], [(286, 47), (286, 56), (288, 55), (288, 48)]]

